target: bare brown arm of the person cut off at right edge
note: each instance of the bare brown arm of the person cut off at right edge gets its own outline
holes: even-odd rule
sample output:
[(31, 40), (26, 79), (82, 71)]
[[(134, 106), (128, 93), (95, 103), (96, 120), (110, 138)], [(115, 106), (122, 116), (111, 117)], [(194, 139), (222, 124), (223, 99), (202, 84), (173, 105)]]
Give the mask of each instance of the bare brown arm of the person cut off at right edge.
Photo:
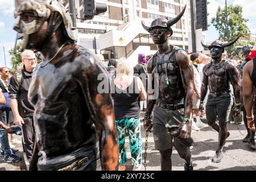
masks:
[(248, 117), (253, 115), (253, 81), (251, 80), (251, 72), (253, 62), (246, 63), (243, 68), (243, 105), (245, 106)]

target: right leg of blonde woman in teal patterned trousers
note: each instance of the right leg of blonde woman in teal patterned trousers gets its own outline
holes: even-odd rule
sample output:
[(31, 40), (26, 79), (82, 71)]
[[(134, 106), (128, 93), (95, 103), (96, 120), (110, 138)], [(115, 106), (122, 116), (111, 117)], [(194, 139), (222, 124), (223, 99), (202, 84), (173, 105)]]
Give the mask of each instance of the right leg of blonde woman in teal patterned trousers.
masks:
[(127, 119), (126, 128), (129, 133), (133, 170), (135, 170), (142, 166), (142, 141), (139, 118)]

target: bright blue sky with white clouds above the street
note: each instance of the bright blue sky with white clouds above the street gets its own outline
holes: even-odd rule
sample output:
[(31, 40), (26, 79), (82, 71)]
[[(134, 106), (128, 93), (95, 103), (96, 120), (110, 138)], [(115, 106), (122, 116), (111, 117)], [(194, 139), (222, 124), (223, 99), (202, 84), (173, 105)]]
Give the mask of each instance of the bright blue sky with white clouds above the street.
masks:
[[(208, 0), (208, 24), (216, 16), (218, 6), (225, 7), (225, 0)], [(246, 23), (251, 33), (256, 34), (256, 1), (253, 0), (227, 0), (228, 5), (241, 5), (243, 7), (243, 18), (248, 19)], [(0, 0), (0, 67), (5, 66), (3, 47), (5, 47), (6, 66), (11, 68), (9, 50), (14, 47), (16, 32), (13, 30), (14, 0)], [(207, 31), (207, 42), (218, 39), (218, 31), (210, 25)]]

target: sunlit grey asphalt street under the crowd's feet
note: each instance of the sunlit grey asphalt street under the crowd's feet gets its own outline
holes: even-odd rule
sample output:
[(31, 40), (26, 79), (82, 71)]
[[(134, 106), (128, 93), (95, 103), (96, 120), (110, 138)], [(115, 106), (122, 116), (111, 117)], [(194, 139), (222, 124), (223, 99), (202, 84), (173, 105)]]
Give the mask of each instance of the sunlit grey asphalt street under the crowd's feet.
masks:
[[(143, 117), (141, 117), (143, 119)], [(205, 119), (202, 119), (205, 122)], [(239, 129), (239, 130), (238, 130)], [(218, 134), (211, 127), (201, 129), (200, 131), (192, 130), (192, 138), (195, 141), (192, 152), (192, 160), (194, 170), (208, 171), (208, 170), (238, 170), (238, 171), (254, 171), (256, 170), (256, 151), (250, 150), (247, 143), (243, 143), (242, 139), (246, 136), (245, 126), (243, 124), (236, 125), (228, 123), (228, 130), (230, 132), (229, 138), (226, 140), (224, 147), (224, 158), (221, 163), (210, 162), (210, 157), (214, 156), (214, 152), (218, 144)], [(142, 152), (144, 153), (145, 146), (145, 132), (143, 129), (143, 122), (141, 121), (142, 131)], [(21, 139), (20, 137), (18, 137)], [(22, 151), (21, 144), (16, 145)], [(131, 155), (129, 147), (129, 138), (126, 137), (127, 157), (128, 161), (125, 166), (127, 170), (131, 170)], [(22, 152), (18, 153), (22, 156)], [(142, 155), (143, 157), (143, 155)], [(25, 170), (24, 159), (19, 163), (3, 163), (1, 157), (0, 171), (22, 171)], [(148, 148), (147, 148), (147, 171), (160, 170), (160, 154), (154, 148), (153, 134), (148, 134)], [(144, 159), (143, 159), (144, 163)], [(172, 170), (183, 171), (184, 161), (179, 157), (177, 151), (172, 152)], [(144, 167), (141, 169), (144, 171)]]

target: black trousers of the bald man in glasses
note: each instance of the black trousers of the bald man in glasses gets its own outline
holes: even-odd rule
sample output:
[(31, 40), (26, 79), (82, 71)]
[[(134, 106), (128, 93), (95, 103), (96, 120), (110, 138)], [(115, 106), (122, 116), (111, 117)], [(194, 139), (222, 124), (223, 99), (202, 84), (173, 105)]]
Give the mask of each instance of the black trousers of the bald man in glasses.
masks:
[(26, 117), (22, 119), (24, 121), (24, 124), (22, 125), (23, 151), (26, 153), (27, 159), (30, 162), (35, 142), (34, 121), (33, 117)]

